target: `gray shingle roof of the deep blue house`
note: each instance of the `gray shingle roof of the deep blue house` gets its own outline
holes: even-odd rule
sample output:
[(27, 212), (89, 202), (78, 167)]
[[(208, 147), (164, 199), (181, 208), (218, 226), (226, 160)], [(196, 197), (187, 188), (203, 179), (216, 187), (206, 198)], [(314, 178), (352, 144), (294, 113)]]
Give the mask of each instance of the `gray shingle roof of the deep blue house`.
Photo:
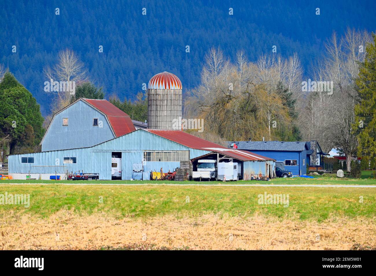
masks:
[[(229, 142), (229, 147), (232, 142)], [(306, 142), (237, 141), (238, 150), (305, 150)], [(308, 145), (307, 145), (308, 146)], [(308, 147), (309, 149), (309, 147)]]

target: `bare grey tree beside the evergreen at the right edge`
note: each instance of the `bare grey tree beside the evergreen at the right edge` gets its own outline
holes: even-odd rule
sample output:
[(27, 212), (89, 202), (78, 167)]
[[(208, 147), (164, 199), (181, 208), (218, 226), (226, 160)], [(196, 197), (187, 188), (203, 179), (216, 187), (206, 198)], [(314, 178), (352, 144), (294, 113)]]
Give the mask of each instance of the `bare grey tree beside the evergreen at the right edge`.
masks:
[(358, 102), (353, 81), (359, 73), (358, 62), (364, 59), (362, 49), (370, 41), (371, 36), (365, 31), (348, 28), (341, 38), (334, 32), (325, 44), (323, 62), (315, 64), (312, 73), (315, 81), (332, 82), (332, 93), (318, 86), (317, 91), (305, 98), (305, 107), (300, 109), (303, 136), (318, 140), (325, 151), (332, 147), (341, 149), (348, 171), (358, 144), (351, 127), (355, 120), (354, 106)]

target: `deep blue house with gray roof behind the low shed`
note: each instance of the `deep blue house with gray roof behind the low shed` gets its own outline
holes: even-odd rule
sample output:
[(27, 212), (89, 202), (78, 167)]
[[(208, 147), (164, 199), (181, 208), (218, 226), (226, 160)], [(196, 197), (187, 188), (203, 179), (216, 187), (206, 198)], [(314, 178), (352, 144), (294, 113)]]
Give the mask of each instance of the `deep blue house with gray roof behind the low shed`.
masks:
[(317, 141), (282, 142), (282, 141), (233, 141), (229, 147), (247, 150), (276, 160), (276, 167), (285, 168), (293, 175), (305, 175), (306, 166), (320, 167), (323, 156)]

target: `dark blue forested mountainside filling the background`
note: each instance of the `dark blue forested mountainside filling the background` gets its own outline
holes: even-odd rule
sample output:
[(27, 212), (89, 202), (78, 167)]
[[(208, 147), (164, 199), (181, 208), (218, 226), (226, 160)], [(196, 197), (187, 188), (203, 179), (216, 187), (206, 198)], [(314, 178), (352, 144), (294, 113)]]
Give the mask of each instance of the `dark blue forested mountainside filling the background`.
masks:
[[(200, 83), (211, 47), (219, 47), (230, 59), (244, 50), (256, 61), (276, 45), (282, 56), (298, 53), (309, 74), (333, 30), (341, 35), (347, 26), (376, 29), (376, 9), (370, 6), (374, 1), (2, 0), (0, 63), (47, 115), (51, 96), (43, 91), (43, 67), (53, 66), (60, 50), (79, 55), (89, 79), (103, 86), (107, 98), (134, 99), (142, 84), (161, 71), (176, 74), (184, 93)], [(60, 15), (55, 15), (56, 8)]]

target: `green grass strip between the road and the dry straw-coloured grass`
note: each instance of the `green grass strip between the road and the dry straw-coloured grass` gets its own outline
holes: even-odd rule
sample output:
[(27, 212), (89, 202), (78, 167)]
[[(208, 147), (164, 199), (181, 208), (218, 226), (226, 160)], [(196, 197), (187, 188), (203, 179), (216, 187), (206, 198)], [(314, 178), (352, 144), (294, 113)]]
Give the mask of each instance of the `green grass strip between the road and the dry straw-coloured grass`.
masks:
[[(104, 212), (117, 218), (166, 214), (177, 217), (204, 214), (247, 217), (258, 213), (322, 221), (337, 217), (373, 218), (376, 210), (376, 190), (373, 188), (0, 185), (0, 194), (5, 192), (30, 194), (30, 207), (0, 205), (1, 215), (30, 214), (41, 218), (62, 209), (74, 209), (77, 214)], [(265, 192), (288, 194), (288, 207), (259, 205), (258, 195)], [(361, 196), (363, 203), (359, 202)]]

